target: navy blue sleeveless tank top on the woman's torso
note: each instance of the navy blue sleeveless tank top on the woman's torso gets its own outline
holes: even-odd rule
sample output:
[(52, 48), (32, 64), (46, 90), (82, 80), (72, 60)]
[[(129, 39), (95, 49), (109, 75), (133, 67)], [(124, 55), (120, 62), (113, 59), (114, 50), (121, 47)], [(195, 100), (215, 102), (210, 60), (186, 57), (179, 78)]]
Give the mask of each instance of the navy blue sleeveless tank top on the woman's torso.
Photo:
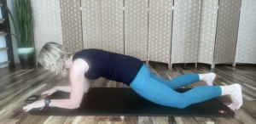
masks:
[(84, 59), (89, 65), (89, 70), (84, 74), (87, 79), (96, 80), (104, 77), (128, 86), (143, 66), (140, 59), (96, 48), (79, 51), (73, 55), (73, 61), (75, 59)]

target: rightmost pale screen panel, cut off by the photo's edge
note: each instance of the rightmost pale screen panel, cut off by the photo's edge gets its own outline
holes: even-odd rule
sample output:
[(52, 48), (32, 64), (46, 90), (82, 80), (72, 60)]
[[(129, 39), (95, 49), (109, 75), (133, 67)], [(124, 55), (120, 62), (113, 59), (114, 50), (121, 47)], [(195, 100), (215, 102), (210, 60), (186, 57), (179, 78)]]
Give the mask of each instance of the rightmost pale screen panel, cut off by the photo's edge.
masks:
[(256, 64), (256, 1), (243, 0), (236, 45), (236, 63)]

